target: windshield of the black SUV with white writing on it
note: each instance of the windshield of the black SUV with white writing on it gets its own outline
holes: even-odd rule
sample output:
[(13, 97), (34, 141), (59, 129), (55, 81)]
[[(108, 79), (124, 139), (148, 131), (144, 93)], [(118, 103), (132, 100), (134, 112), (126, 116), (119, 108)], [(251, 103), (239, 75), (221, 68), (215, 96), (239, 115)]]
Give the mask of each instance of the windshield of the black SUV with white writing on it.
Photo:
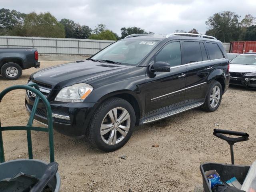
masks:
[(94, 55), (94, 60), (110, 60), (127, 65), (137, 65), (158, 43), (152, 40), (121, 40)]

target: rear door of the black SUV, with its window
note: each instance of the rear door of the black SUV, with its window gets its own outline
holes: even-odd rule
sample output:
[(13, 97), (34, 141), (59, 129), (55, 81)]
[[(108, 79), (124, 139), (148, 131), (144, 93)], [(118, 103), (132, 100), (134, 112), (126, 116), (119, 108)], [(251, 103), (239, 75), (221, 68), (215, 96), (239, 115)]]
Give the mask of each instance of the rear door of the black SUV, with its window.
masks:
[(212, 62), (206, 54), (204, 42), (183, 40), (184, 64), (187, 68), (184, 102), (204, 100), (208, 89), (207, 77), (212, 72)]

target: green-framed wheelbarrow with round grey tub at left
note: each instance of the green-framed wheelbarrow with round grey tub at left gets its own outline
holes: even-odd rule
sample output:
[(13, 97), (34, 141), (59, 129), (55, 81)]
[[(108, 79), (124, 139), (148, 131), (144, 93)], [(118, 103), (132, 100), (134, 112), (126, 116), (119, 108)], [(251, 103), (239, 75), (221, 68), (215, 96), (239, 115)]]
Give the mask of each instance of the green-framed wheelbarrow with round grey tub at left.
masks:
[[(36, 94), (36, 98), (26, 126), (2, 127), (0, 122), (0, 191), (58, 192), (60, 190), (60, 175), (57, 172), (58, 164), (54, 162), (52, 110), (50, 104), (45, 96), (39, 91), (39, 87), (35, 83), (6, 88), (0, 93), (0, 102), (5, 94), (16, 89), (31, 91)], [(47, 109), (48, 128), (32, 126), (37, 105), (40, 100), (44, 103)], [(29, 159), (4, 162), (2, 131), (8, 130), (26, 130)], [(31, 131), (48, 132), (51, 163), (48, 164), (44, 161), (33, 159)]]

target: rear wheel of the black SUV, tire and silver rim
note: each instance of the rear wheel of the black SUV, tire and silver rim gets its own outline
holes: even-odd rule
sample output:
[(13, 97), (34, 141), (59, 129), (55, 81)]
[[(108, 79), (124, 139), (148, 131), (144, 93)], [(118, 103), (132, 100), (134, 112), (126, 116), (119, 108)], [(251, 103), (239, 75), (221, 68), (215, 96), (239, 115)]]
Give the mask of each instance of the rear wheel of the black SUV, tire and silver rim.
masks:
[[(216, 92), (218, 92), (218, 94), (215, 95), (214, 90), (215, 90), (215, 94), (216, 94)], [(207, 112), (216, 111), (218, 109), (218, 107), (220, 106), (221, 100), (222, 100), (222, 86), (221, 86), (220, 82), (213, 81), (207, 94), (206, 94), (205, 102), (202, 105), (202, 109)], [(218, 103), (217, 103), (217, 101), (218, 101)], [(213, 102), (214, 102), (214, 104), (213, 104)]]

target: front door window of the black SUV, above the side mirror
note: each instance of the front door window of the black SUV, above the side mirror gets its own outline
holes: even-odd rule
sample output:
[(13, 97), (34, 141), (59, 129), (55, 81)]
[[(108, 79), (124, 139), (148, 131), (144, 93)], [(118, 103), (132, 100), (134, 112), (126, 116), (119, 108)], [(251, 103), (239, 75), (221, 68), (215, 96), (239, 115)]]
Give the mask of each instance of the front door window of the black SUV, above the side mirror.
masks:
[(171, 67), (181, 64), (180, 42), (167, 44), (156, 56), (155, 61), (169, 63)]

